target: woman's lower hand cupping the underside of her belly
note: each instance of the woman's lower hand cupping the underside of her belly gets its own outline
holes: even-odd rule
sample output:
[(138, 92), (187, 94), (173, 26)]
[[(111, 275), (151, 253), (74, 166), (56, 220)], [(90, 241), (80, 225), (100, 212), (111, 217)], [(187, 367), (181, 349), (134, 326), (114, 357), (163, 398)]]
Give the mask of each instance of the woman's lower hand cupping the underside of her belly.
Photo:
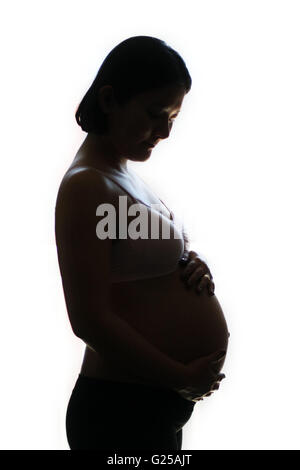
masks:
[(208, 356), (202, 356), (186, 365), (189, 374), (189, 383), (186, 387), (177, 389), (185, 398), (202, 400), (210, 396), (219, 388), (221, 380), (225, 378), (220, 374), (226, 352), (218, 351)]

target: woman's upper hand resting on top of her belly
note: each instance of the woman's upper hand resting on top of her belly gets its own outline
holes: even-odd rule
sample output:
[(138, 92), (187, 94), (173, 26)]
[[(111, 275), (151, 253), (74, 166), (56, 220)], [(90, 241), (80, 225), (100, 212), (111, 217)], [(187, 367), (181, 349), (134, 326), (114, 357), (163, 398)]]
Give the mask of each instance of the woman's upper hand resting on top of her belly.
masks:
[(215, 284), (212, 274), (195, 251), (186, 252), (180, 259), (180, 264), (184, 266), (181, 279), (187, 287), (194, 287), (197, 294), (207, 287), (209, 295), (214, 295)]

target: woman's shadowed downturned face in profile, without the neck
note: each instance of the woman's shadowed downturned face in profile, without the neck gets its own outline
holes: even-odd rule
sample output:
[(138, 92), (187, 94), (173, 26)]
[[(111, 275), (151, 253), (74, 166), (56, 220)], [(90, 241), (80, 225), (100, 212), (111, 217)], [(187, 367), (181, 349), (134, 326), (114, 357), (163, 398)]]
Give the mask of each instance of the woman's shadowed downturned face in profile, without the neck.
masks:
[(178, 85), (152, 90), (132, 98), (109, 113), (109, 136), (117, 153), (130, 160), (145, 161), (152, 148), (170, 135), (185, 89)]

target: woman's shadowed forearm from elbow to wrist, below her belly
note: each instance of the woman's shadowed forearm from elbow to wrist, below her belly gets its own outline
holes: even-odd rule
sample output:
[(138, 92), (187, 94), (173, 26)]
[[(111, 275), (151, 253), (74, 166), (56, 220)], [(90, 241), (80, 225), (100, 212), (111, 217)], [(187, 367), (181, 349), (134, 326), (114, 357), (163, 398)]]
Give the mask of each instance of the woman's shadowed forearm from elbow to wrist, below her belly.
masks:
[(79, 336), (108, 363), (133, 376), (163, 387), (184, 387), (189, 381), (186, 365), (158, 350), (126, 321), (112, 312)]

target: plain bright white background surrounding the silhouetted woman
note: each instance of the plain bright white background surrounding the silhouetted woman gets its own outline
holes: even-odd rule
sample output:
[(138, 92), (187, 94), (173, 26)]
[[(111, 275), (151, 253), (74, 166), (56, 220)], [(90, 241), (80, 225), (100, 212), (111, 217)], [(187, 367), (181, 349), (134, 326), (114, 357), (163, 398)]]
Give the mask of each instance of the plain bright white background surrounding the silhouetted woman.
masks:
[(185, 449), (299, 449), (300, 8), (291, 0), (1, 3), (1, 449), (68, 449), (84, 344), (54, 237), (58, 186), (86, 134), (75, 111), (130, 36), (165, 40), (193, 84), (134, 169), (184, 215), (231, 333), (226, 379)]

